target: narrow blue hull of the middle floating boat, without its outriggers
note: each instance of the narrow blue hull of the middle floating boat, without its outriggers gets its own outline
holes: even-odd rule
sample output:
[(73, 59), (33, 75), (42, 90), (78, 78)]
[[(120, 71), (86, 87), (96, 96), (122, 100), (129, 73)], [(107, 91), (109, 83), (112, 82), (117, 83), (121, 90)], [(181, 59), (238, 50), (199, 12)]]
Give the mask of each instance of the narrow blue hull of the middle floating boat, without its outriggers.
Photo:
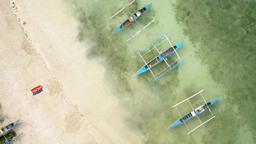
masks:
[(141, 73), (149, 70), (149, 68), (153, 68), (156, 64), (160, 63), (165, 58), (167, 58), (168, 56), (172, 55), (172, 53), (174, 53), (174, 50), (177, 50), (179, 47), (181, 47), (181, 45), (184, 42), (185, 42), (185, 40), (183, 40), (181, 43), (178, 43), (177, 45), (174, 45), (173, 47), (172, 46), (169, 47), (164, 52), (160, 53), (157, 57), (153, 58), (150, 62), (148, 62), (147, 64), (143, 65), (143, 67), (141, 67), (141, 69), (139, 69), (137, 71), (137, 73), (135, 73), (133, 76), (141, 74)]

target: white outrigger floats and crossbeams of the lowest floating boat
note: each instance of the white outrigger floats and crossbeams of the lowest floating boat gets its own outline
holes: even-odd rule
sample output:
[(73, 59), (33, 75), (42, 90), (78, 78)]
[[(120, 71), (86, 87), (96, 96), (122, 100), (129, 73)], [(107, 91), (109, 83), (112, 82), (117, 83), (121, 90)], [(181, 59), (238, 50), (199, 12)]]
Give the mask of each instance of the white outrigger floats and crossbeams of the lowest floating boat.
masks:
[[(189, 97), (189, 98), (187, 98), (187, 99), (181, 101), (180, 103), (178, 103), (178, 104), (176, 104), (176, 105), (173, 105), (172, 107), (175, 107), (176, 110), (177, 110), (178, 113), (179, 113), (179, 110), (177, 109), (177, 105), (182, 104), (184, 101), (188, 101), (188, 103), (189, 103), (189, 105), (191, 106), (192, 110), (195, 110), (195, 109), (193, 108), (193, 106), (191, 105), (189, 99), (195, 97), (197, 94), (200, 94), (200, 95), (202, 96), (203, 101), (205, 101), (205, 98), (203, 98), (203, 95), (202, 95), (201, 92), (203, 92), (203, 90), (200, 91), (200, 92), (198, 92), (198, 93), (196, 93), (196, 94), (194, 94), (194, 95), (192, 95), (191, 97)], [(207, 104), (206, 101), (205, 101), (205, 104)], [(210, 110), (210, 112), (211, 112), (211, 114), (212, 114), (212, 111), (211, 111), (210, 107), (208, 107), (208, 109)], [(181, 113), (179, 113), (179, 116), (182, 118)], [(202, 121), (200, 120), (200, 118), (199, 118), (197, 115), (196, 115), (196, 117), (199, 119), (199, 121), (200, 121), (201, 124), (198, 125), (196, 128), (194, 128), (193, 130), (189, 130), (188, 125), (187, 125), (187, 124), (185, 123), (185, 121), (184, 121), (184, 124), (186, 125), (186, 127), (187, 127), (187, 129), (188, 129), (188, 131), (189, 131), (188, 134), (192, 133), (192, 131), (196, 130), (196, 129), (199, 128), (201, 125), (207, 123), (208, 121), (210, 121), (211, 119), (213, 119), (215, 116), (213, 116), (213, 114), (212, 114), (212, 117), (209, 118), (207, 121), (205, 121), (205, 122), (203, 122), (203, 123), (202, 123)]]

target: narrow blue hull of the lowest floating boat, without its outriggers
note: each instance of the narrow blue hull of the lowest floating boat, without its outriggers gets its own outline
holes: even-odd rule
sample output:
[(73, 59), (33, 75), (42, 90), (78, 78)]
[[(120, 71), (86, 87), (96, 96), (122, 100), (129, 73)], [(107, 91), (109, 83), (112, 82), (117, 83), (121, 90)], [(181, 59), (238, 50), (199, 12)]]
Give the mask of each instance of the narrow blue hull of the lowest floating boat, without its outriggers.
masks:
[(204, 112), (205, 110), (208, 109), (209, 106), (213, 105), (214, 103), (216, 103), (219, 99), (221, 98), (217, 98), (214, 99), (212, 101), (209, 101), (206, 104), (203, 104), (199, 107), (197, 107), (196, 109), (194, 109), (193, 111), (187, 113), (186, 115), (184, 115), (182, 118), (179, 118), (177, 121), (175, 121), (174, 123), (172, 123), (170, 125), (170, 127), (168, 127), (168, 129), (175, 127), (176, 125), (182, 124), (186, 121), (188, 121), (189, 119), (195, 117), (196, 115), (200, 115), (202, 112)]

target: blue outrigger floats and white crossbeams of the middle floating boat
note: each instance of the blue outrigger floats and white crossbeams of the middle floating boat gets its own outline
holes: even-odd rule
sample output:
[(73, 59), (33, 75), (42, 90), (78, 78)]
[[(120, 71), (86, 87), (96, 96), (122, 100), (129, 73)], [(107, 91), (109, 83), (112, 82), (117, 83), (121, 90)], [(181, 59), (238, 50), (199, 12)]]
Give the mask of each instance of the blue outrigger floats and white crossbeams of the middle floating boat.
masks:
[[(167, 67), (166, 67), (164, 70), (160, 71), (158, 74), (154, 74), (154, 73), (152, 72), (152, 70), (149, 68), (150, 72), (152, 73), (152, 75), (153, 75), (154, 78), (155, 78), (155, 79), (153, 80), (153, 82), (156, 81), (156, 80), (159, 79), (161, 76), (165, 75), (165, 74), (168, 73), (170, 70), (172, 70), (173, 68), (177, 67), (179, 64), (181, 64), (182, 62), (184, 62), (184, 61), (186, 60), (186, 59), (184, 59), (183, 61), (181, 60), (181, 57), (179, 57), (178, 53), (177, 53), (176, 50), (174, 49), (174, 47), (173, 47), (173, 45), (171, 44), (170, 40), (166, 37), (167, 34), (168, 34), (168, 33), (166, 33), (165, 35), (162, 35), (162, 37), (160, 37), (158, 40), (156, 40), (156, 41), (159, 41), (160, 39), (162, 39), (162, 38), (165, 37), (165, 39), (164, 39), (163, 41), (161, 41), (160, 44), (158, 44), (158, 45), (155, 46), (154, 44), (156, 43), (156, 41), (154, 41), (152, 44), (150, 44), (149, 46), (147, 46), (145, 49), (143, 49), (142, 51), (140, 51), (140, 52), (137, 53), (137, 55), (141, 56), (143, 62), (144, 62), (145, 64), (147, 64), (147, 62), (144, 60), (143, 56), (145, 56), (148, 52), (152, 51), (153, 49), (156, 49), (156, 51), (158, 51), (158, 53), (159, 53), (159, 55), (160, 55), (161, 52), (160, 52), (156, 47), (158, 47), (159, 45), (161, 45), (162, 43), (164, 43), (164, 41), (168, 40), (168, 43), (172, 46), (174, 52), (175, 52), (176, 55), (178, 56), (178, 59), (176, 59), (176, 60), (175, 60), (174, 62), (172, 62), (171, 64), (168, 64), (168, 63), (166, 62), (166, 60), (164, 59), (165, 63), (167, 64)], [(144, 53), (144, 55), (141, 55), (141, 52), (143, 52), (144, 50), (148, 49), (148, 47), (150, 47), (150, 46), (153, 46), (153, 48), (150, 49), (148, 52)], [(177, 62), (178, 60), (179, 60), (180, 62), (179, 62), (178, 64), (174, 65), (173, 67), (171, 67), (171, 65), (174, 64), (175, 62)], [(165, 71), (167, 68), (170, 68), (170, 69), (168, 69), (167, 71)], [(161, 74), (163, 71), (165, 71), (165, 73)], [(161, 74), (161, 75), (158, 76), (159, 74)], [(156, 76), (158, 76), (158, 77), (156, 77)]]

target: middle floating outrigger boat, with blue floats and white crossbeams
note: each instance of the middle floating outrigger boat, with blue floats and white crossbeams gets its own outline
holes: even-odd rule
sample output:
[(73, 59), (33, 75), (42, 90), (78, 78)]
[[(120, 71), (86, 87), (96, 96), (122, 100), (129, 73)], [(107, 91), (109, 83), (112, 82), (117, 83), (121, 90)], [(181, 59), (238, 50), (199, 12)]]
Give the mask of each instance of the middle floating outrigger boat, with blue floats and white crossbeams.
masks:
[[(147, 70), (150, 70), (150, 72), (152, 73), (152, 75), (154, 76), (154, 80), (159, 79), (161, 76), (165, 75), (166, 73), (168, 73), (168, 71), (172, 70), (173, 68), (177, 67), (179, 64), (183, 63), (185, 61), (185, 59), (182, 61), (181, 58), (179, 57), (178, 53), (176, 52), (178, 50), (179, 47), (181, 47), (181, 45), (185, 42), (185, 40), (183, 40), (181, 43), (178, 43), (177, 45), (172, 45), (170, 40), (166, 37), (168, 33), (166, 33), (165, 35), (163, 35), (161, 38), (159, 38), (156, 41), (159, 41), (162, 38), (166, 38), (164, 40), (161, 41), (160, 44), (164, 43), (165, 40), (168, 40), (168, 43), (171, 45), (171, 47), (168, 47), (168, 49), (166, 49), (164, 52), (159, 51), (156, 47), (158, 47), (160, 44), (158, 45), (154, 45), (156, 43), (156, 41), (154, 41), (154, 43), (150, 44), (149, 46), (147, 46), (145, 49), (143, 49), (142, 51), (138, 52), (137, 55), (141, 56), (142, 60), (144, 61), (145, 65), (143, 65), (143, 67), (141, 67), (141, 69), (139, 69), (137, 71), (137, 73), (135, 73), (133, 76), (136, 76), (138, 74), (144, 73)], [(148, 49), (150, 46), (153, 46), (152, 49), (150, 49), (149, 51), (156, 49), (159, 52), (159, 55), (156, 56), (155, 58), (153, 58), (151, 61), (149, 61), (148, 63), (143, 59), (143, 56), (146, 55), (148, 52), (144, 53), (144, 55), (141, 55), (141, 52), (143, 52), (144, 50)], [(171, 64), (167, 63), (167, 57), (172, 55), (172, 53), (176, 53), (176, 55), (178, 56), (178, 59), (176, 59), (176, 61), (172, 62)], [(176, 65), (174, 65), (172, 67), (172, 64), (174, 64), (177, 61), (180, 61), (179, 63), (177, 63)], [(165, 63), (167, 64), (167, 67), (162, 70), (160, 73), (158, 74), (154, 74), (153, 71), (151, 70), (156, 64), (159, 64), (161, 61), (165, 61)], [(167, 71), (165, 71), (167, 68), (169, 68)], [(162, 73), (163, 71), (165, 71), (164, 73)], [(157, 75), (161, 74), (160, 76), (156, 77)]]

